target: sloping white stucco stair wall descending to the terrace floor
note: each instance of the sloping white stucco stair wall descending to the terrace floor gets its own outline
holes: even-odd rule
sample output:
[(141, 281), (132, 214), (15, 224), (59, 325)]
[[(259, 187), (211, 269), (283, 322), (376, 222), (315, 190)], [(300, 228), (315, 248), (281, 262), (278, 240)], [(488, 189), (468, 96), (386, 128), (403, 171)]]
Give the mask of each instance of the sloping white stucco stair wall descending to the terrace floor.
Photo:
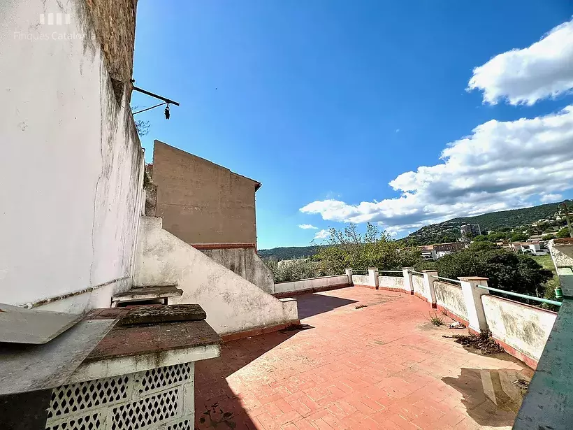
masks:
[(161, 228), (161, 218), (142, 217), (136, 285), (176, 284), (181, 297), (170, 303), (198, 303), (218, 334), (230, 334), (298, 320), (293, 299), (277, 299)]

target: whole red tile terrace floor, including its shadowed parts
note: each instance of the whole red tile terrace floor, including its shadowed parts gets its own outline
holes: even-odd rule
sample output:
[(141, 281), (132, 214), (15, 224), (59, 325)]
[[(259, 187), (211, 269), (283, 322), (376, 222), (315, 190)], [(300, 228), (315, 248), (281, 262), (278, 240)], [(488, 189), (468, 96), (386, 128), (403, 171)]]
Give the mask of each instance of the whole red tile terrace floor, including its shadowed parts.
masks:
[(511, 429), (512, 382), (532, 371), (444, 338), (463, 331), (433, 326), (427, 303), (361, 287), (297, 299), (312, 329), (225, 343), (196, 364), (197, 429)]

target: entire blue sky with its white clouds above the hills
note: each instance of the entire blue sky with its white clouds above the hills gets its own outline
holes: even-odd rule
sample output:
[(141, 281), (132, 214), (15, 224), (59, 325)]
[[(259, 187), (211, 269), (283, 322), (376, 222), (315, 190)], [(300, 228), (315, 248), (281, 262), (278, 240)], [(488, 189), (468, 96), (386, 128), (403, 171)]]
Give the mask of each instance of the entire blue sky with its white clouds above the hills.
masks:
[(181, 103), (138, 115), (147, 161), (157, 138), (262, 182), (259, 248), (571, 197), (572, 15), (565, 0), (140, 1), (136, 85)]

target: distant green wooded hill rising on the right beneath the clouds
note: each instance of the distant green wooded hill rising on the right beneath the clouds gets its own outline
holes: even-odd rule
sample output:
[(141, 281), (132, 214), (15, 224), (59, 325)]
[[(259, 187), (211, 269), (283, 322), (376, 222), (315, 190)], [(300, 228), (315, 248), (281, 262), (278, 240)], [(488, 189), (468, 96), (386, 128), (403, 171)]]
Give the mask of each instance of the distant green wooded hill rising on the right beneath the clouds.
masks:
[(453, 218), (439, 224), (430, 224), (414, 231), (408, 238), (429, 245), (437, 242), (456, 241), (460, 236), (462, 224), (479, 224), (482, 232), (498, 230), (503, 227), (518, 227), (531, 224), (537, 220), (553, 218), (558, 211), (558, 203), (547, 203), (531, 208), (502, 210), (500, 212), (484, 213), (475, 217)]

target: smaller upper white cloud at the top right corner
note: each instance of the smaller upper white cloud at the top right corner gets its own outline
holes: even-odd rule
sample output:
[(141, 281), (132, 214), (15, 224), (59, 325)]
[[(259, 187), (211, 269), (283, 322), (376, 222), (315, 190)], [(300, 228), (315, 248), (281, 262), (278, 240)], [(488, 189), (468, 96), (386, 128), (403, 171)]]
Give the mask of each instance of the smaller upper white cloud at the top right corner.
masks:
[(528, 48), (496, 55), (476, 67), (467, 89), (484, 92), (484, 103), (507, 99), (532, 105), (573, 88), (573, 20), (551, 29)]

